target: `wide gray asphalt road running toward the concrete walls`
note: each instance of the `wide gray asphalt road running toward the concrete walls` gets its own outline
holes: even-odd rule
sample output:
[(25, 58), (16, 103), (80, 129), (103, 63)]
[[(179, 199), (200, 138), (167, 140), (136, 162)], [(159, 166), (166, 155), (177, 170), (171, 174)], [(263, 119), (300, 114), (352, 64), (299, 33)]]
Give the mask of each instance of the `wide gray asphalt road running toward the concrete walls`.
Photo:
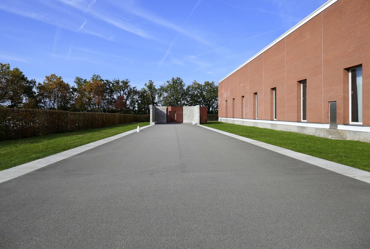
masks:
[(161, 124), (0, 183), (0, 248), (370, 248), (370, 184)]

